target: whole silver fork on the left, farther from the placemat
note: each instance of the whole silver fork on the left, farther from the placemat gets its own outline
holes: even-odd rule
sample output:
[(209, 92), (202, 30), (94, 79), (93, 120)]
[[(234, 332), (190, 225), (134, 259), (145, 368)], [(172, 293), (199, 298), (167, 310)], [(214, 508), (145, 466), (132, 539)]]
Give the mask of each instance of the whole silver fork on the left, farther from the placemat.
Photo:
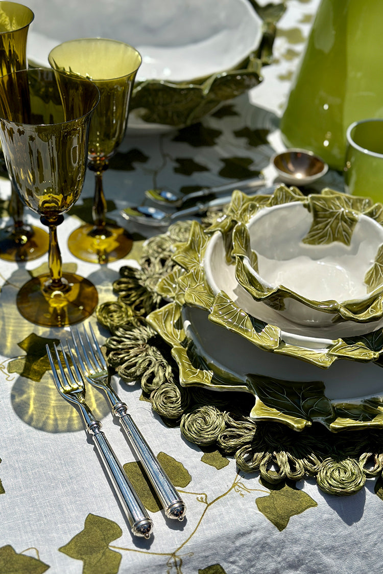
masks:
[(60, 374), (58, 373), (54, 364), (53, 356), (50, 352), (49, 346), (46, 345), (46, 352), (48, 353), (50, 367), (52, 368), (53, 372), (54, 383), (56, 384), (58, 392), (67, 401), (79, 407), (86, 425), (87, 432), (92, 436), (97, 451), (100, 453), (101, 459), (111, 478), (116, 494), (122, 503), (123, 509), (130, 523), (132, 533), (135, 536), (143, 536), (144, 538), (149, 538), (153, 528), (153, 521), (148, 517), (146, 510), (144, 509), (138, 497), (138, 494), (126, 476), (120, 461), (116, 457), (104, 433), (101, 431), (101, 422), (96, 420), (91, 409), (89, 409), (89, 406), (85, 402), (84, 380), (76, 366), (75, 358), (73, 357), (71, 348), (68, 346), (68, 354), (71, 358), (72, 366), (70, 366), (67, 355), (65, 354), (64, 348), (62, 347), (65, 367), (67, 368), (66, 371), (64, 370), (64, 366), (62, 365), (60, 355), (58, 354), (58, 350), (55, 344), (54, 351), (56, 353), (56, 359), (58, 362), (58, 369)]

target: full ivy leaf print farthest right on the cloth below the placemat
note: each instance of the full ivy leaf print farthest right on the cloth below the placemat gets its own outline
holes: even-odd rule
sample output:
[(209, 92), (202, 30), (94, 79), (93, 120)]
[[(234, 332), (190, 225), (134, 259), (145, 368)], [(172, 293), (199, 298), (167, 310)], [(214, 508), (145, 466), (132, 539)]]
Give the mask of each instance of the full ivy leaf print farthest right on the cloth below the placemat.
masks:
[(279, 484), (261, 482), (269, 488), (270, 494), (257, 498), (256, 505), (258, 510), (278, 528), (279, 532), (286, 528), (292, 516), (318, 506), (318, 503), (306, 492), (290, 486), (287, 481)]

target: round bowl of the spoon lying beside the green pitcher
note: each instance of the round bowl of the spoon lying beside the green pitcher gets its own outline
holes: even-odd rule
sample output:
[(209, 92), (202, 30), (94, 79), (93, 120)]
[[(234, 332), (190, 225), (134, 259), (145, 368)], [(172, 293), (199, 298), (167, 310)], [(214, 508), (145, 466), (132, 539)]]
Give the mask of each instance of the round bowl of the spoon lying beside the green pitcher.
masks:
[(271, 163), (279, 179), (292, 185), (307, 185), (323, 177), (329, 166), (321, 157), (304, 149), (291, 148), (276, 153)]

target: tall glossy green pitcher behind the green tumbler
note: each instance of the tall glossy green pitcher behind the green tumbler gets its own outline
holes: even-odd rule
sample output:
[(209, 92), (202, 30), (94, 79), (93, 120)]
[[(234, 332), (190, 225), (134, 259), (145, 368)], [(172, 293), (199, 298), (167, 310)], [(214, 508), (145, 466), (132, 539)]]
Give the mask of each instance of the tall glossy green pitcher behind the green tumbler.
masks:
[(287, 147), (342, 169), (346, 131), (383, 118), (383, 0), (322, 0), (280, 123)]

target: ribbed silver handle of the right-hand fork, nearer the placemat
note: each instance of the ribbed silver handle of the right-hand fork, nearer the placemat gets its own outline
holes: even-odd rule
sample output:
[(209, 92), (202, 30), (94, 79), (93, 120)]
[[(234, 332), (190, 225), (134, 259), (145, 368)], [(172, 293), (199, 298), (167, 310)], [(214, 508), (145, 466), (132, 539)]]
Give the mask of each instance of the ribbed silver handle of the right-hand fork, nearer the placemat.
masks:
[(144, 470), (157, 492), (167, 518), (183, 520), (186, 513), (186, 505), (179, 497), (166, 472), (159, 464), (157, 457), (140, 433), (134, 420), (127, 412), (127, 405), (120, 402), (113, 407), (114, 413), (119, 417), (120, 425), (126, 433), (132, 447), (135, 450)]

